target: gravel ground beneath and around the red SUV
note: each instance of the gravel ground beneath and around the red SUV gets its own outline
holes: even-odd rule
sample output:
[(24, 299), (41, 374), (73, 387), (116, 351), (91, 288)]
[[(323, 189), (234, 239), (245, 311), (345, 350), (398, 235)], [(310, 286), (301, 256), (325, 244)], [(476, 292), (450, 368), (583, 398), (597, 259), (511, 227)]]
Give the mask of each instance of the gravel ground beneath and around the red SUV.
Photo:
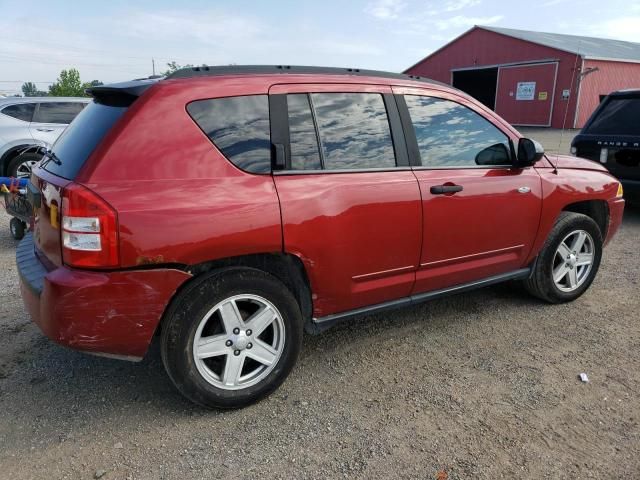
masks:
[(307, 336), (285, 384), (240, 411), (183, 400), (157, 344), (127, 363), (45, 339), (8, 220), (0, 478), (638, 478), (640, 208), (576, 302), (505, 284)]

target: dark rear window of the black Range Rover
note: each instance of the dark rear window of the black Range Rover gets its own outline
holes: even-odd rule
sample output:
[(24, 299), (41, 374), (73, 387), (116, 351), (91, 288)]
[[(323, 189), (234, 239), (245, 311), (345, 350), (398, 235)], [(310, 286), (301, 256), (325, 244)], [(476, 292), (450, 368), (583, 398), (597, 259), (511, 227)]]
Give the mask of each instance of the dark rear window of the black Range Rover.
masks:
[(640, 97), (610, 97), (585, 133), (640, 136)]

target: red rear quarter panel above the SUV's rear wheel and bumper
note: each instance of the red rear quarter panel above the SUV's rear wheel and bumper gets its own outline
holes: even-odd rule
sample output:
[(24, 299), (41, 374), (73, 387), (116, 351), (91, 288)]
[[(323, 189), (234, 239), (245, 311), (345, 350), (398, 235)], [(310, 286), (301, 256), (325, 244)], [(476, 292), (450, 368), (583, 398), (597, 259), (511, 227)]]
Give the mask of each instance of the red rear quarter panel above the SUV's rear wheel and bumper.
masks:
[(282, 250), (270, 175), (228, 161), (186, 111), (194, 100), (266, 94), (260, 78), (163, 81), (134, 103), (81, 172), (118, 212), (122, 267)]

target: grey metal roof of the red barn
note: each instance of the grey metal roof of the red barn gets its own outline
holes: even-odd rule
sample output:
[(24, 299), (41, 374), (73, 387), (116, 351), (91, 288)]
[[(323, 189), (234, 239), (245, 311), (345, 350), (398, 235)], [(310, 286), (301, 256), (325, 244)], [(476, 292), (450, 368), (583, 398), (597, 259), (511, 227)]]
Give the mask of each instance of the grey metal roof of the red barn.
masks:
[(623, 42), (621, 40), (611, 40), (607, 38), (564, 35), (560, 33), (532, 32), (513, 28), (485, 27), (481, 25), (479, 25), (478, 28), (501, 33), (527, 42), (537, 43), (546, 47), (564, 50), (565, 52), (575, 53), (584, 58), (640, 62), (640, 43)]

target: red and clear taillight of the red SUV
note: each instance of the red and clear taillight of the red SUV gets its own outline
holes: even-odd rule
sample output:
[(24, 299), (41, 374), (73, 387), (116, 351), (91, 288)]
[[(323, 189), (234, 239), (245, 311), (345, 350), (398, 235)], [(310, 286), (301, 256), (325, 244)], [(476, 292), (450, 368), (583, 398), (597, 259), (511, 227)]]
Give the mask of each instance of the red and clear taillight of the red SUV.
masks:
[(75, 183), (65, 187), (61, 231), (65, 264), (89, 268), (120, 264), (117, 214), (88, 188)]

